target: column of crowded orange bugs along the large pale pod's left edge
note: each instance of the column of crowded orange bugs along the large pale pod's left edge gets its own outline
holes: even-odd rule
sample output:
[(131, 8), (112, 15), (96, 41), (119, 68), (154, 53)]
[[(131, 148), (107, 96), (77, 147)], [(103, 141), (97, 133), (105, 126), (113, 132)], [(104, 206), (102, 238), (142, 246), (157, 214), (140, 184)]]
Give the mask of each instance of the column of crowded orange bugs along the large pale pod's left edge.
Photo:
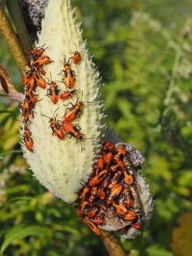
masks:
[(34, 108), (38, 101), (38, 94), (35, 93), (35, 89), (37, 87), (46, 88), (47, 82), (43, 78), (45, 75), (43, 67), (52, 62), (48, 55), (43, 55), (45, 49), (40, 47), (28, 52), (28, 57), (31, 59), (31, 68), (26, 71), (22, 81), (22, 84), (26, 87), (25, 100), (22, 104), (22, 117), (25, 125), (23, 138), (25, 147), (31, 152), (34, 150), (34, 146), (29, 125), (31, 119), (34, 118)]

